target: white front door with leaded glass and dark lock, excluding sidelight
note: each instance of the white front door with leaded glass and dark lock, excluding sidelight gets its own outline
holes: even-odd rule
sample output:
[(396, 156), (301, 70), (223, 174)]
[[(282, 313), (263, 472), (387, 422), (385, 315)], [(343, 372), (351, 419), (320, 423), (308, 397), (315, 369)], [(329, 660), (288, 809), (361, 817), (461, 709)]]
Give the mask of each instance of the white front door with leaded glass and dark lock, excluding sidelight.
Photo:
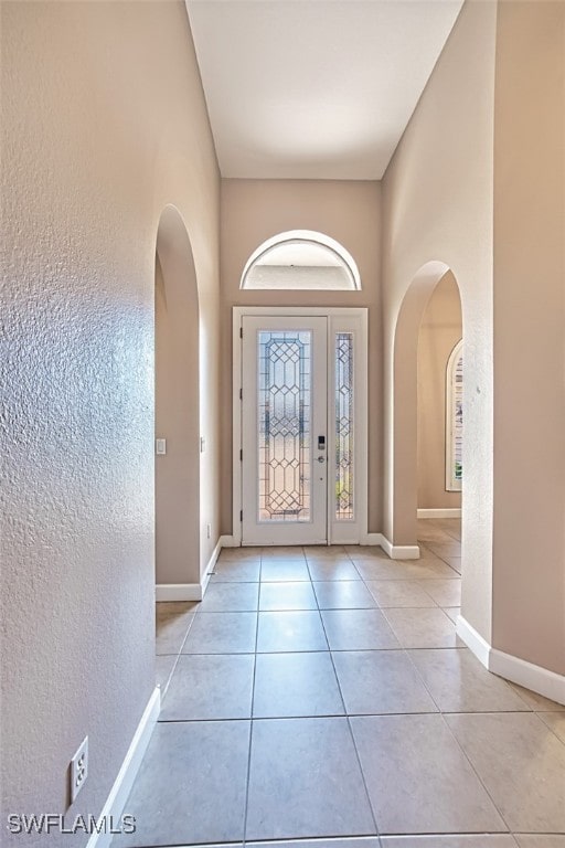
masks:
[(328, 539), (328, 319), (243, 326), (243, 544)]

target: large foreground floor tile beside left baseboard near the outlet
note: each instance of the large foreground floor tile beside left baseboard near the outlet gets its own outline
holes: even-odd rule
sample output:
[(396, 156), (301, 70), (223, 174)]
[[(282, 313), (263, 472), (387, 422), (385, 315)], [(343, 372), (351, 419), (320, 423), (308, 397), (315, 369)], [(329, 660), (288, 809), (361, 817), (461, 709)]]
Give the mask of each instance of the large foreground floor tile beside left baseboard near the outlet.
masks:
[(157, 724), (127, 802), (137, 831), (113, 848), (242, 840), (248, 721)]

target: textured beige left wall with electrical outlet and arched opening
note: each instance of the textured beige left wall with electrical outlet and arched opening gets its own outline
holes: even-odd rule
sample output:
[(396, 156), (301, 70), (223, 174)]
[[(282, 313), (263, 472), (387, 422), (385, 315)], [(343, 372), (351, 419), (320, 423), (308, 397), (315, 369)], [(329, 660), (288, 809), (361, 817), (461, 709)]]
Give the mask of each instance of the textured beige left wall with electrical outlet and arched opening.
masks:
[[(1, 12), (4, 823), (65, 810), (85, 734), (90, 771), (70, 815), (98, 814), (154, 686), (154, 261), (168, 203), (200, 290), (209, 550), (220, 410), (218, 176), (184, 4)], [(4, 830), (2, 845), (20, 842)]]

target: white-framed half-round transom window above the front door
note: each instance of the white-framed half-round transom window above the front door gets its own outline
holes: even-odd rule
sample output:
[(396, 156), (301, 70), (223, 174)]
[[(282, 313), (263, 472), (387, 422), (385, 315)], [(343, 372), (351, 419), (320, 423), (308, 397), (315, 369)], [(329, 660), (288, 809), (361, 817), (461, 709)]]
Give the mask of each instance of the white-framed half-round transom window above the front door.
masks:
[(322, 233), (292, 230), (268, 239), (249, 256), (241, 288), (359, 290), (350, 253)]

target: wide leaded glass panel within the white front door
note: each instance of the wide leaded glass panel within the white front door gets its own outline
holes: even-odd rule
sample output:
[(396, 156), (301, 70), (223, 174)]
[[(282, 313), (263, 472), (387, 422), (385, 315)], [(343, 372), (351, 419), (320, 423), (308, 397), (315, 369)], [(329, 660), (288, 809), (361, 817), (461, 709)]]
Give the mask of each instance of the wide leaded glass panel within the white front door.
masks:
[(311, 330), (258, 333), (259, 521), (310, 521)]

